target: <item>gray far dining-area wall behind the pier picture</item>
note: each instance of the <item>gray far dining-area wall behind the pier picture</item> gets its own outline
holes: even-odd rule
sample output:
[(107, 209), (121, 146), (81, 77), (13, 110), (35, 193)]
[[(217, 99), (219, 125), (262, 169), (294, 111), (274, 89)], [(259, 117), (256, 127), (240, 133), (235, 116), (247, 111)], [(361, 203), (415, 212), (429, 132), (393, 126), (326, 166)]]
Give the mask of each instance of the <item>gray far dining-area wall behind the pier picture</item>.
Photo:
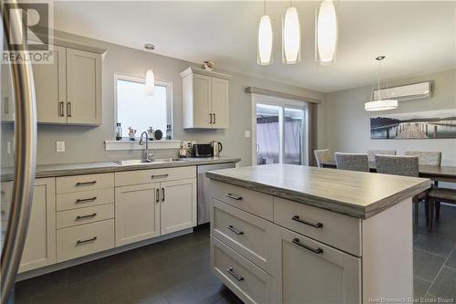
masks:
[[(456, 69), (389, 82), (390, 86), (435, 80), (435, 93), (430, 99), (399, 101), (396, 110), (384, 112), (408, 113), (421, 110), (442, 110), (456, 108)], [(324, 104), (326, 144), (332, 152), (366, 152), (368, 149), (395, 149), (441, 151), (442, 164), (456, 165), (456, 139), (446, 140), (371, 140), (369, 117), (376, 113), (364, 110), (370, 90), (365, 87), (347, 89), (326, 94)]]

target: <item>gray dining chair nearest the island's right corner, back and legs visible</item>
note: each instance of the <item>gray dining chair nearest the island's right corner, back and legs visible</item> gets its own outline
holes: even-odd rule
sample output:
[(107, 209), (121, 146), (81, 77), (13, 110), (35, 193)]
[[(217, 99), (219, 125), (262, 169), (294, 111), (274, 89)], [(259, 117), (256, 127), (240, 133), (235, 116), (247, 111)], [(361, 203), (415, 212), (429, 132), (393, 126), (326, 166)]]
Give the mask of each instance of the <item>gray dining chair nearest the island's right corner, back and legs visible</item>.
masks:
[[(418, 156), (404, 155), (376, 155), (375, 165), (377, 173), (401, 175), (401, 176), (420, 176), (420, 165)], [(426, 199), (428, 191), (413, 196), (412, 203), (414, 208), (413, 232), (418, 233), (419, 203)], [(425, 204), (426, 224), (430, 225), (430, 205)]]

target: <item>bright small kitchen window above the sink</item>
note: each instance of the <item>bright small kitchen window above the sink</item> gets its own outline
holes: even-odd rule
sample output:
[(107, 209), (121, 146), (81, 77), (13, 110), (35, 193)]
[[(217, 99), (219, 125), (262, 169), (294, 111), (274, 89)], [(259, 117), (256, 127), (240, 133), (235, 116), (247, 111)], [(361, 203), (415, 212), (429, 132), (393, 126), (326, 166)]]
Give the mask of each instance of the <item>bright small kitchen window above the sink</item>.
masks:
[(120, 122), (122, 137), (129, 137), (129, 127), (142, 131), (161, 130), (172, 126), (171, 82), (155, 81), (153, 96), (146, 96), (146, 79), (115, 75), (116, 121)]

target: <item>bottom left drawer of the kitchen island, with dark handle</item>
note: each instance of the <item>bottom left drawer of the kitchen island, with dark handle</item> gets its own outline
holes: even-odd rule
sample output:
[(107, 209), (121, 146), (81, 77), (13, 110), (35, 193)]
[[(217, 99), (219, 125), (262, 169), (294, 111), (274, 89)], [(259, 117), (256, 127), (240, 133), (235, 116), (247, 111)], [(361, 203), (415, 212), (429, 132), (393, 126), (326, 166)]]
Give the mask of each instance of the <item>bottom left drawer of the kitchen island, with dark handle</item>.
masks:
[(244, 303), (272, 302), (272, 277), (213, 236), (211, 266), (215, 275)]

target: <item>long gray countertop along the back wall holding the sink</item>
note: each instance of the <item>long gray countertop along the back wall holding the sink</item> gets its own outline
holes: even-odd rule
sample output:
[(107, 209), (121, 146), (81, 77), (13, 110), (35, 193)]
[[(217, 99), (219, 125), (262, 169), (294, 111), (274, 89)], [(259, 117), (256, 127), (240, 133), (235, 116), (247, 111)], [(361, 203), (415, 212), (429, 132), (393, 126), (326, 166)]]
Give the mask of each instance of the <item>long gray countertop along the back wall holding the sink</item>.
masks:
[[(210, 157), (210, 158), (189, 158), (185, 161), (175, 162), (150, 162), (132, 165), (120, 165), (117, 162), (84, 162), (84, 163), (62, 163), (44, 164), (36, 166), (36, 178), (57, 177), (79, 174), (112, 173), (120, 171), (161, 169), (172, 167), (187, 167), (203, 164), (217, 164), (226, 162), (241, 162), (240, 158)], [(12, 181), (11, 168), (2, 168), (2, 182)]]

